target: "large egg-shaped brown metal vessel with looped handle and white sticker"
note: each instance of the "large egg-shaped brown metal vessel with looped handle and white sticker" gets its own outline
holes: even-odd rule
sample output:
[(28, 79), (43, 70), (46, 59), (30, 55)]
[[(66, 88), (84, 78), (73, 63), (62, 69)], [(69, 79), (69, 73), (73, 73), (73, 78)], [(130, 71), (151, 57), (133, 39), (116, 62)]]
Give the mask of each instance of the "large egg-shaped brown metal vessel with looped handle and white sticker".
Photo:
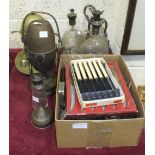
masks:
[(26, 15), (22, 23), (21, 35), (24, 51), (30, 62), (31, 74), (32, 66), (42, 73), (47, 94), (51, 94), (56, 87), (56, 73), (51, 72), (51, 69), (55, 65), (57, 46), (51, 24), (40, 14), (53, 18), (58, 31), (58, 42), (62, 43), (57, 21), (47, 12), (33, 11)]

